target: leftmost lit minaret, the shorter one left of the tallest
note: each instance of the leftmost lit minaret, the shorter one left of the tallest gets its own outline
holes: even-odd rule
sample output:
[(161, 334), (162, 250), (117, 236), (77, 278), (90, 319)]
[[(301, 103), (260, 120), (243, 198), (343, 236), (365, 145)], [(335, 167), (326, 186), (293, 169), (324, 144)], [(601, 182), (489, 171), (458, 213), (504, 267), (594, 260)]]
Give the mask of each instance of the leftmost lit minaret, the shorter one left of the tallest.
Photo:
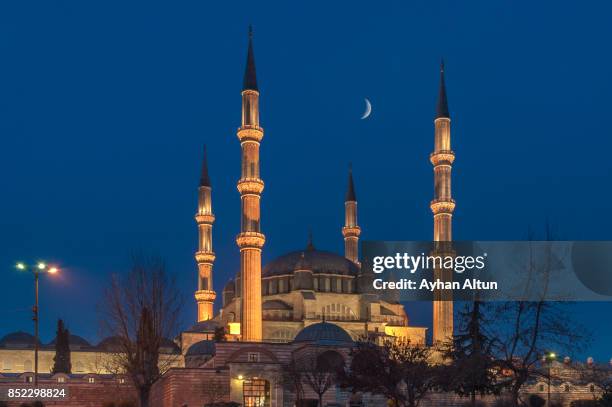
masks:
[(204, 147), (202, 175), (198, 188), (198, 213), (195, 216), (200, 236), (198, 251), (195, 254), (198, 263), (198, 291), (195, 292), (198, 303), (198, 322), (212, 319), (213, 303), (217, 297), (212, 285), (212, 267), (215, 262), (215, 253), (212, 249), (212, 225), (215, 215), (212, 213), (212, 188), (206, 161), (206, 147)]

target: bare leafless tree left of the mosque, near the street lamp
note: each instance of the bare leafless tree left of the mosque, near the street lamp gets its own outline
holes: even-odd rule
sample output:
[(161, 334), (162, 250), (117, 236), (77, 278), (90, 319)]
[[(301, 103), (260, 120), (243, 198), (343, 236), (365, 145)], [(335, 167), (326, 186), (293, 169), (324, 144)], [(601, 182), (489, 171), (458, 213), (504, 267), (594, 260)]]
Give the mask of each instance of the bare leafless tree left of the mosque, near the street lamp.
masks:
[(140, 407), (149, 406), (151, 386), (172, 366), (160, 357), (167, 338), (178, 332), (182, 300), (164, 262), (135, 256), (126, 275), (114, 275), (105, 291), (102, 329), (114, 338), (109, 371), (125, 373), (134, 385)]

